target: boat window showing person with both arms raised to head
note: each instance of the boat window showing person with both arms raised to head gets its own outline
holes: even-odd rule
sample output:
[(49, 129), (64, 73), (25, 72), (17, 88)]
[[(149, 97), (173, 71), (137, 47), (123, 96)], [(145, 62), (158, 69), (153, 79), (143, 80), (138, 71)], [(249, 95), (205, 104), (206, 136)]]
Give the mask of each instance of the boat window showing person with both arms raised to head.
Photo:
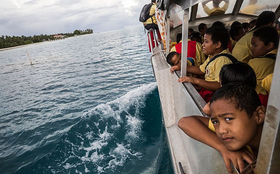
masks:
[(204, 0), (198, 4), (197, 18), (232, 13), (236, 0)]

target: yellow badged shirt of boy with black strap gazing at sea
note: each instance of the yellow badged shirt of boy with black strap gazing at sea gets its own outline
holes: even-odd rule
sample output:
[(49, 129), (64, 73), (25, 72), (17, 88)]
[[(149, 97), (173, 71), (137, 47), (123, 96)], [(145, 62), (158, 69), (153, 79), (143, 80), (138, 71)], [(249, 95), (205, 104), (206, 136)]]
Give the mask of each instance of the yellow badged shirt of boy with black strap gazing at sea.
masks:
[[(229, 49), (224, 50), (224, 51), (220, 52), (219, 54), (222, 54), (222, 53), (231, 54), (229, 52)], [(216, 55), (214, 55), (214, 56), (216, 56)], [(210, 82), (217, 81), (217, 82), (219, 82), (219, 74), (220, 74), (220, 70), (221, 70), (222, 66), (225, 65), (225, 64), (230, 64), (232, 62), (231, 62), (231, 60), (229, 60), (229, 58), (227, 58), (225, 56), (218, 57), (207, 66), (206, 70), (208, 72), (206, 72), (205, 71), (205, 66), (208, 64), (210, 59), (213, 58), (214, 56), (209, 55), (207, 60), (202, 65), (200, 65), (199, 68), (202, 72), (205, 73), (205, 80), (206, 81), (210, 81)]]

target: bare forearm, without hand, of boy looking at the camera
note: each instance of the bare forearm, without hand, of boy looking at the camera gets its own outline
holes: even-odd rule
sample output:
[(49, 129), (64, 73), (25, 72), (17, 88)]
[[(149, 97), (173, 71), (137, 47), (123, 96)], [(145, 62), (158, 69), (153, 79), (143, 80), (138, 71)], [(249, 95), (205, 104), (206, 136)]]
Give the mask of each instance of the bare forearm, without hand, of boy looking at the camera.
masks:
[[(179, 120), (178, 126), (189, 137), (204, 143), (217, 151), (224, 148), (225, 145), (218, 139), (216, 133), (211, 131), (206, 125), (197, 118), (198, 116), (183, 117)], [(205, 117), (205, 119), (209, 118)]]

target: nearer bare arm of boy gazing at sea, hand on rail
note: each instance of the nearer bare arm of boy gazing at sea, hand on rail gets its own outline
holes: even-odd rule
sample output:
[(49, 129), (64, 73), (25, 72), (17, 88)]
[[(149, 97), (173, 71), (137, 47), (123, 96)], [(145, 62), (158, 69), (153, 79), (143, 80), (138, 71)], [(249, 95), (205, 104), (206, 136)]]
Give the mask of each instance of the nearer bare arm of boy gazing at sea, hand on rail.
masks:
[[(188, 67), (189, 68), (189, 67)], [(199, 68), (199, 67), (198, 67)], [(202, 71), (200, 71), (202, 72)], [(190, 82), (191, 84), (194, 85), (198, 85), (206, 90), (209, 91), (216, 91), (217, 89), (219, 89), (221, 87), (221, 84), (219, 82), (210, 82), (210, 81), (206, 81), (206, 80), (202, 80), (199, 78), (193, 78), (193, 77), (187, 77), (187, 76), (183, 76), (181, 78), (179, 78), (177, 80), (177, 82)]]

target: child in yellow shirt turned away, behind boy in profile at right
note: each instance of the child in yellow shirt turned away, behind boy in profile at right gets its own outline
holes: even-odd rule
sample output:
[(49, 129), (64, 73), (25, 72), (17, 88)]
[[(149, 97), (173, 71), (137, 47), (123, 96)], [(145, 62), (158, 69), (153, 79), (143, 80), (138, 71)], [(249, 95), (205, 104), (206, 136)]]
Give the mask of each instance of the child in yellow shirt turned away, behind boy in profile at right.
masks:
[(256, 21), (256, 26), (252, 28), (246, 35), (244, 35), (236, 44), (232, 50), (232, 55), (237, 58), (237, 60), (248, 63), (250, 59), (253, 59), (250, 54), (251, 39), (254, 30), (261, 26), (275, 26), (275, 13), (273, 11), (263, 11)]

